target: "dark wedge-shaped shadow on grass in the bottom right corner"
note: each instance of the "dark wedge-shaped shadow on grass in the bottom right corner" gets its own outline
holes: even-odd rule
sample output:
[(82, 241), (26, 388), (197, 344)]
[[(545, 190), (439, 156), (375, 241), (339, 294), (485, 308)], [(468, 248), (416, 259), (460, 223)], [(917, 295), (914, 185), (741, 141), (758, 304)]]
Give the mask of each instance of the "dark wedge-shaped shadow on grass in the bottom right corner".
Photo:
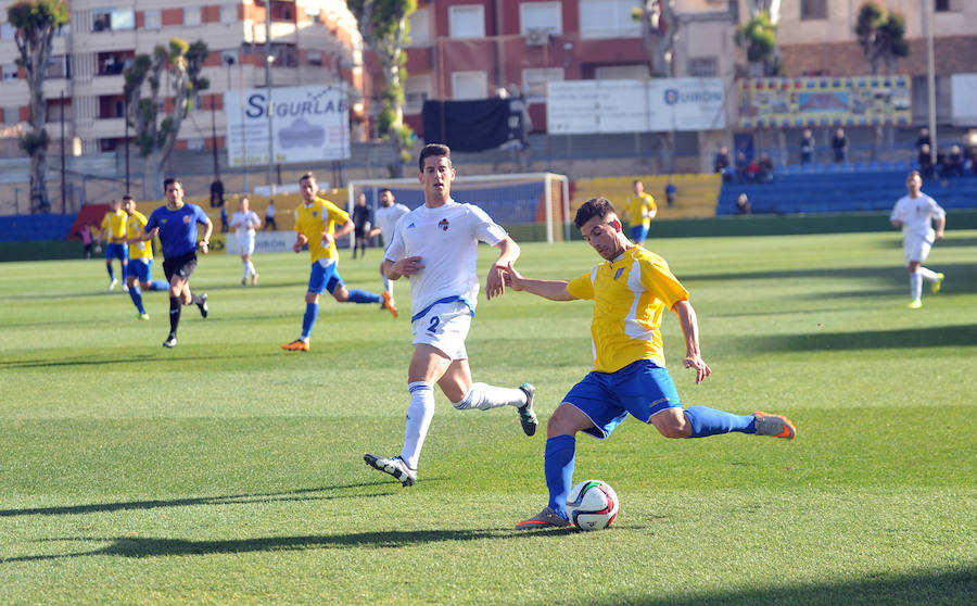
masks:
[(593, 604), (607, 606), (795, 606), (885, 605), (916, 606), (974, 604), (977, 568), (929, 570), (915, 575), (875, 575), (858, 581), (782, 585), (745, 591), (699, 593), (695, 596), (619, 595)]

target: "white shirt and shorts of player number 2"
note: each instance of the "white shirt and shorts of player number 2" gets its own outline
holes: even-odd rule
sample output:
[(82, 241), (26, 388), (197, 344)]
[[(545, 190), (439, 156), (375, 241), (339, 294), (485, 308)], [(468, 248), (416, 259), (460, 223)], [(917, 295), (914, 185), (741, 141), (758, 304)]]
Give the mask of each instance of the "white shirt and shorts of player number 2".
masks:
[(448, 200), (418, 206), (397, 222), (384, 257), (420, 256), (423, 269), (409, 276), (414, 343), (430, 343), (452, 359), (468, 357), (465, 338), (479, 299), (479, 241), (506, 238), (485, 211)]

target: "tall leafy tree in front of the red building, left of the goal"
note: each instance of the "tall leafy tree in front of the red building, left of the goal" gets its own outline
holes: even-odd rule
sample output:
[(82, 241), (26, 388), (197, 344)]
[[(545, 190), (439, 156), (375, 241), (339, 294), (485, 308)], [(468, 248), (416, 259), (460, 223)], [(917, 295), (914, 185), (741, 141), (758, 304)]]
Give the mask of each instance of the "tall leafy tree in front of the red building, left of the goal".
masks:
[[(410, 161), (408, 148), (414, 131), (404, 124), (404, 81), (407, 79), (407, 52), (410, 41), (407, 17), (417, 10), (417, 0), (350, 0), (364, 43), (380, 60), (386, 87), (383, 110), (377, 119), (377, 132), (391, 142), (403, 162)], [(394, 176), (403, 175), (403, 166), (393, 167)]]

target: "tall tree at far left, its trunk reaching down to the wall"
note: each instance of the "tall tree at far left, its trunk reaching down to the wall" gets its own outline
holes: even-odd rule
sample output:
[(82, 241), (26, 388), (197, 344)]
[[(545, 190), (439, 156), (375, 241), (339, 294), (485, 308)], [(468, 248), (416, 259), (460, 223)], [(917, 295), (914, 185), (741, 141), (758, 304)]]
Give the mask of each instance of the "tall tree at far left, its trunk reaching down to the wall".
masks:
[(16, 28), (17, 65), (24, 70), (30, 101), (30, 131), (21, 138), (21, 148), (30, 156), (30, 212), (47, 213), (51, 210), (46, 179), (51, 139), (45, 128), (45, 77), (54, 33), (67, 23), (68, 8), (64, 0), (17, 0), (7, 9), (7, 18)]

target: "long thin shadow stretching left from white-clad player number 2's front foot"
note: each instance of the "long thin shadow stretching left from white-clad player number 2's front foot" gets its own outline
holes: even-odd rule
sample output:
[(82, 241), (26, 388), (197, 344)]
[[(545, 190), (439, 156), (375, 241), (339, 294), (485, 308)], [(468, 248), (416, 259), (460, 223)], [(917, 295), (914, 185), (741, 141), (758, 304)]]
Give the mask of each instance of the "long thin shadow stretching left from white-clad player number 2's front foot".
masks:
[(363, 496), (382, 496), (385, 492), (369, 494), (337, 494), (323, 493), (357, 489), (357, 488), (385, 488), (393, 485), (390, 482), (378, 484), (376, 482), (363, 482), (340, 487), (300, 489), (289, 492), (245, 493), (223, 496), (201, 496), (195, 498), (170, 498), (152, 501), (120, 501), (116, 503), (91, 503), (86, 505), (65, 505), (62, 507), (28, 507), (25, 509), (0, 509), (0, 518), (15, 516), (69, 516), (97, 514), (104, 512), (124, 512), (127, 509), (155, 509), (157, 507), (183, 507), (188, 505), (233, 505), (249, 503), (270, 503), (280, 501), (329, 501), (333, 498), (359, 498)]

